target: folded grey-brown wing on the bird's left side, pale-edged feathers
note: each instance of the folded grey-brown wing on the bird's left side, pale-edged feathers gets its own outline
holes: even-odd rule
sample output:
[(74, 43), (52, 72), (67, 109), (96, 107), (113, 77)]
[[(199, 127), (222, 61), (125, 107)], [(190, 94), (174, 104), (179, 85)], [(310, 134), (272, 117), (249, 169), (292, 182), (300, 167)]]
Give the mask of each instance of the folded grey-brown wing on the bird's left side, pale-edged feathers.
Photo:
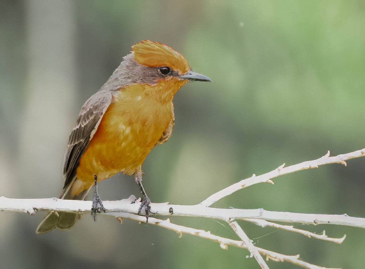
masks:
[(66, 179), (64, 189), (75, 177), (80, 158), (95, 134), (111, 101), (110, 91), (98, 91), (82, 106), (65, 152), (63, 174)]

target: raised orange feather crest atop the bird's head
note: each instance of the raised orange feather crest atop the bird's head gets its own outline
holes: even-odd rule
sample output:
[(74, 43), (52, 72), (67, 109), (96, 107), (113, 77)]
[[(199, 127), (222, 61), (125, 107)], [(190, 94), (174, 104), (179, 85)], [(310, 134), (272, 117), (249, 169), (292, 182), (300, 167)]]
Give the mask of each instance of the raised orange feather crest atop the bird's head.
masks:
[(185, 74), (190, 67), (184, 56), (165, 44), (142, 40), (132, 46), (134, 59), (149, 67), (168, 66), (172, 70)]

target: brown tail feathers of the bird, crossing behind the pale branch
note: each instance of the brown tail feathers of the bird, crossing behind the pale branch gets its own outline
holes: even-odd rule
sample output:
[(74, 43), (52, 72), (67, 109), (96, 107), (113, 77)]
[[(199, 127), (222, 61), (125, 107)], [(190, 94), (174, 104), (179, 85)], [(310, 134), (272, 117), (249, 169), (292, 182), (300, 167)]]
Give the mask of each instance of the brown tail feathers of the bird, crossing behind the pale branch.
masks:
[[(85, 200), (90, 190), (91, 187), (75, 196), (70, 196), (69, 190), (66, 190), (66, 193), (65, 191), (62, 191), (62, 194), (59, 198), (68, 200)], [(76, 222), (79, 218), (81, 218), (81, 214), (50, 211), (50, 213), (47, 214), (41, 223), (39, 223), (35, 233), (45, 234), (52, 231), (54, 228), (60, 231), (70, 230), (76, 225)]]

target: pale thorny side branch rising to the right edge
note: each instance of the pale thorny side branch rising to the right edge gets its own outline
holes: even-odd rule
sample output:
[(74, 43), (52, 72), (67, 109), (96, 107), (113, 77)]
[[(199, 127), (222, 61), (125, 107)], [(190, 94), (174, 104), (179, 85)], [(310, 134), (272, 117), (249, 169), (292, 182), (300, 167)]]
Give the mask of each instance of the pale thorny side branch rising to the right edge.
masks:
[(321, 157), (319, 159), (316, 159), (313, 161), (304, 161), (303, 163), (291, 165), (288, 167), (284, 167), (284, 165), (285, 165), (285, 163), (284, 163), (283, 165), (280, 165), (278, 168), (276, 168), (275, 170), (273, 170), (271, 172), (268, 172), (268, 173), (260, 175), (260, 176), (256, 176), (254, 174), (250, 178), (243, 179), (240, 182), (237, 182), (227, 188), (224, 188), (223, 190), (218, 191), (215, 194), (212, 194), (211, 196), (209, 196), (207, 199), (205, 199), (200, 204), (202, 204), (204, 206), (211, 206), (218, 200), (220, 200), (230, 194), (233, 194), (233, 192), (236, 192), (243, 188), (249, 187), (253, 184), (262, 183), (262, 182), (268, 182), (268, 183), (273, 184), (271, 179), (276, 178), (277, 176), (286, 175), (289, 173), (293, 173), (293, 172), (297, 172), (297, 171), (309, 169), (309, 168), (318, 168), (319, 165), (330, 164), (330, 163), (341, 163), (346, 166), (346, 162), (345, 162), (346, 160), (350, 160), (350, 159), (358, 158), (358, 157), (362, 157), (362, 156), (365, 156), (365, 148), (358, 150), (358, 151), (346, 153), (346, 154), (340, 154), (340, 155), (337, 155), (334, 157), (330, 157), (330, 151), (328, 151), (326, 155), (324, 155), (323, 157)]

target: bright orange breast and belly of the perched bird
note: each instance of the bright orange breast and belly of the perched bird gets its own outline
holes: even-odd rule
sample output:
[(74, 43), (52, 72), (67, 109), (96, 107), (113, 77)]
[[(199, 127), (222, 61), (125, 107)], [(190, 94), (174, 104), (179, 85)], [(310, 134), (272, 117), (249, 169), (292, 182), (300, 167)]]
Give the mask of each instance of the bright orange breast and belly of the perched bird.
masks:
[(72, 195), (123, 172), (132, 175), (161, 138), (172, 119), (171, 101), (131, 85), (114, 95), (77, 168)]

